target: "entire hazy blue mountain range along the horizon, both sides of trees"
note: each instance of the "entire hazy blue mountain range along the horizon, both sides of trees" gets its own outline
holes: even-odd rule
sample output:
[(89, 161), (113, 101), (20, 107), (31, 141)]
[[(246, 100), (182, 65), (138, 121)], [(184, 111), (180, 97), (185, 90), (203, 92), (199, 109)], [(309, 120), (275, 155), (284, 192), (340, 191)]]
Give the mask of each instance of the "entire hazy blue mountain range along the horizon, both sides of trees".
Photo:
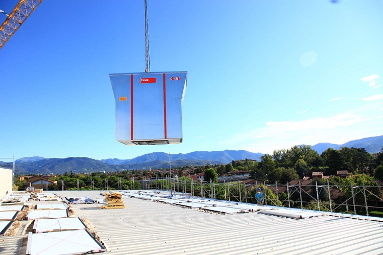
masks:
[[(362, 138), (347, 142), (343, 145), (319, 143), (312, 148), (319, 154), (328, 148), (341, 149), (342, 147), (365, 148), (369, 153), (380, 152), (383, 148), (383, 135)], [(262, 153), (253, 153), (246, 150), (224, 150), (224, 151), (195, 151), (186, 154), (168, 154), (164, 152), (153, 152), (132, 159), (92, 159), (88, 157), (68, 158), (43, 158), (23, 157), (15, 160), (15, 174), (62, 174), (65, 172), (91, 173), (99, 171), (122, 171), (122, 170), (148, 170), (169, 169), (177, 167), (195, 167), (208, 164), (228, 164), (232, 160), (254, 159), (260, 160)], [(170, 161), (170, 164), (169, 164)], [(12, 163), (0, 161), (0, 167), (12, 168)]]

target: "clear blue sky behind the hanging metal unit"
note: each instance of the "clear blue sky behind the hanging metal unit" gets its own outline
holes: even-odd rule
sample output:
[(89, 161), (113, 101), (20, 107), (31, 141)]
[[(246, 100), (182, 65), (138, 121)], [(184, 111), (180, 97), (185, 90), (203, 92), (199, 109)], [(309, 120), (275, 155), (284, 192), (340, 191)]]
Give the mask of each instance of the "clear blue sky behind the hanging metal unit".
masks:
[(143, 3), (40, 4), (0, 49), (0, 157), (272, 153), (383, 135), (383, 1), (148, 0), (151, 71), (188, 72), (184, 142), (116, 142), (109, 74), (145, 70)]

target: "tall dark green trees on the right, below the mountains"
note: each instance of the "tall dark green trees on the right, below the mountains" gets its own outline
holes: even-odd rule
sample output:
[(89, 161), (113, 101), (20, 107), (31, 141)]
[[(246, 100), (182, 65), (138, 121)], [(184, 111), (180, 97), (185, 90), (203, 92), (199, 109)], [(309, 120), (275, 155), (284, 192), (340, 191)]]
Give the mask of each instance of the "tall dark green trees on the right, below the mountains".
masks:
[[(291, 180), (312, 176), (313, 172), (323, 172), (324, 176), (336, 176), (337, 171), (346, 170), (350, 174), (367, 174), (375, 179), (383, 179), (383, 148), (375, 155), (365, 148), (328, 148), (322, 154), (310, 146), (294, 146), (290, 149), (274, 150), (265, 154), (260, 161), (233, 160), (230, 164), (216, 167), (217, 174), (225, 175), (232, 171), (249, 171), (250, 178), (262, 182), (285, 184)], [(209, 170), (210, 171), (210, 170)], [(208, 174), (205, 180), (209, 180)]]

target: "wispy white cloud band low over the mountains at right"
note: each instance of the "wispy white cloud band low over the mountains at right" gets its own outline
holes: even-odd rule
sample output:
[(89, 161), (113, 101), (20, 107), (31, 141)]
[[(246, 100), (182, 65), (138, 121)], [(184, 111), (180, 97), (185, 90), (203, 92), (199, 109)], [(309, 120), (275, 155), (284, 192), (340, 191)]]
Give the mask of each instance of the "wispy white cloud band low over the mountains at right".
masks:
[(265, 126), (247, 130), (221, 141), (230, 148), (273, 153), (292, 146), (346, 142), (381, 135), (383, 116), (366, 118), (356, 114), (338, 114), (329, 118), (303, 121), (268, 121)]

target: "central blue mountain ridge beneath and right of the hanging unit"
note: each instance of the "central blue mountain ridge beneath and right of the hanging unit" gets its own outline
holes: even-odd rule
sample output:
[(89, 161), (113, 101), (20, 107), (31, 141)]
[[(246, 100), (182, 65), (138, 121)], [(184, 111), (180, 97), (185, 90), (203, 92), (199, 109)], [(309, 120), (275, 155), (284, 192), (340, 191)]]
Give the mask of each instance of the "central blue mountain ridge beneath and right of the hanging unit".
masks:
[[(225, 150), (225, 151), (195, 151), (186, 154), (170, 154), (171, 161), (177, 160), (207, 160), (209, 161), (217, 161), (221, 164), (228, 164), (232, 160), (238, 159), (254, 159), (260, 160), (260, 157), (264, 155), (262, 153), (253, 153), (245, 150)], [(102, 162), (108, 163), (111, 165), (133, 165), (133, 164), (142, 164), (148, 163), (150, 161), (162, 160), (169, 162), (169, 153), (164, 152), (153, 152), (149, 154), (145, 154), (142, 156), (135, 157), (133, 159), (101, 159)], [(113, 164), (115, 162), (115, 164)], [(119, 163), (118, 163), (119, 162)]]

